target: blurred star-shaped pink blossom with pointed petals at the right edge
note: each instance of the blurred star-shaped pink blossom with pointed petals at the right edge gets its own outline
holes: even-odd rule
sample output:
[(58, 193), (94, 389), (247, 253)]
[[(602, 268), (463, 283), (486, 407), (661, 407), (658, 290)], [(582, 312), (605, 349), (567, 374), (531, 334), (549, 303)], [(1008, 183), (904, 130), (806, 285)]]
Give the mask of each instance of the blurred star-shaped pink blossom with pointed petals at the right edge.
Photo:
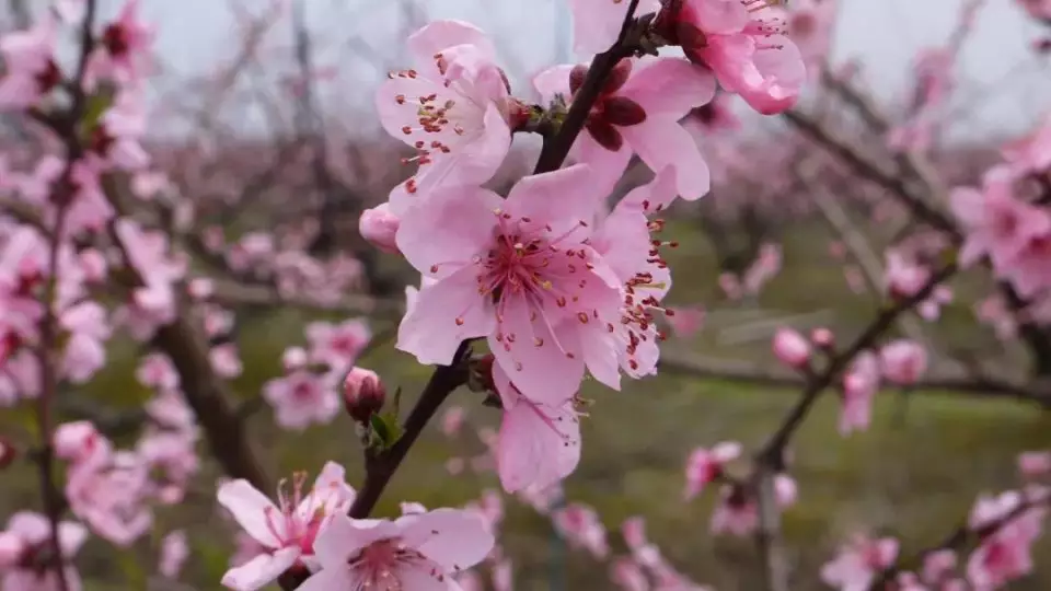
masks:
[(960, 251), (965, 266), (989, 255), (995, 269), (1003, 274), (1030, 240), (1051, 232), (1051, 216), (1018, 200), (1013, 178), (1003, 169), (986, 173), (981, 190), (954, 189), (949, 205), (967, 229), (967, 241)]

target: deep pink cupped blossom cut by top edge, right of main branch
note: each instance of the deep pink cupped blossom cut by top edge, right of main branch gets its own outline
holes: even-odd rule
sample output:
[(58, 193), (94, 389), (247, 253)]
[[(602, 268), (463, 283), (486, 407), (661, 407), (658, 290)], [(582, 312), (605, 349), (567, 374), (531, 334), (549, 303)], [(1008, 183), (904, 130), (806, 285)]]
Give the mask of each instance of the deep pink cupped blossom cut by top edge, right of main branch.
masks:
[(719, 84), (755, 111), (772, 115), (792, 107), (806, 81), (795, 43), (785, 36), (778, 9), (766, 0), (677, 0), (658, 28), (691, 60), (715, 72)]

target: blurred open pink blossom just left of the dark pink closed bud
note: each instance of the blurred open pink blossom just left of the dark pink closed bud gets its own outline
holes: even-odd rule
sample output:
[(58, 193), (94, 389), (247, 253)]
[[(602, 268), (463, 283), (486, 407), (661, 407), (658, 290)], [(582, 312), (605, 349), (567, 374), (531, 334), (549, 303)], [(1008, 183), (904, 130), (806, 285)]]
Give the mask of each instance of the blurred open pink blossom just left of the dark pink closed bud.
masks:
[(267, 382), (263, 397), (274, 407), (277, 424), (286, 429), (302, 430), (314, 422), (325, 425), (339, 414), (342, 406), (335, 380), (334, 373), (294, 371)]

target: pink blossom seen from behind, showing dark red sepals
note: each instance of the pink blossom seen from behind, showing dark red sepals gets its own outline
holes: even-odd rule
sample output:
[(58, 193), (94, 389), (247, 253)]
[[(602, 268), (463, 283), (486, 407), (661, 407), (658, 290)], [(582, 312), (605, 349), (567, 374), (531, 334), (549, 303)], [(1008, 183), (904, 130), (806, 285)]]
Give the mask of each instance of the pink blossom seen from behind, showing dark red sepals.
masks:
[[(556, 66), (533, 83), (545, 100), (562, 94), (571, 102), (587, 70), (587, 66)], [(622, 59), (591, 107), (571, 154), (591, 165), (607, 190), (627, 169), (632, 155), (638, 154), (655, 173), (670, 166), (677, 193), (697, 199), (711, 188), (708, 167), (680, 120), (714, 95), (715, 80), (685, 59)]]

